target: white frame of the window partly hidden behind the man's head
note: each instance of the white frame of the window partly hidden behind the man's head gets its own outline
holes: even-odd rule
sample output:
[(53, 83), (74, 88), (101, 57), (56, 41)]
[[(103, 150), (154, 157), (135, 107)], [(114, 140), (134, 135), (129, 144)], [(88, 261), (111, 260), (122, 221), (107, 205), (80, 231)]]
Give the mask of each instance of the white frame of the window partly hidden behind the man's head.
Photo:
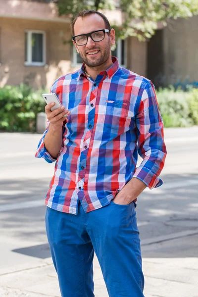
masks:
[[(127, 39), (124, 39), (125, 42), (125, 49), (124, 49), (124, 64), (120, 64), (121, 67), (126, 67), (127, 65)], [(117, 58), (118, 61), (122, 60), (122, 53), (121, 53), (121, 49), (122, 49), (122, 40), (119, 38), (118, 42), (117, 42)], [(72, 59), (71, 59), (71, 67), (81, 67), (82, 63), (77, 63), (77, 50), (75, 48), (74, 45), (72, 45)]]

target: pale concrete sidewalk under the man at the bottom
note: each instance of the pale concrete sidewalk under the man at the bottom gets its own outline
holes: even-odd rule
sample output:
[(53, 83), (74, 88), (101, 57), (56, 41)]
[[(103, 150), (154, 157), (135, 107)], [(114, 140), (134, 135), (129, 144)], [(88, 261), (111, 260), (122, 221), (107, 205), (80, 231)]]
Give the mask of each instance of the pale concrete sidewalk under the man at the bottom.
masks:
[[(198, 297), (198, 229), (194, 233), (142, 247), (145, 297)], [(95, 296), (108, 297), (96, 255), (94, 281)], [(0, 271), (0, 296), (60, 297), (51, 258)]]

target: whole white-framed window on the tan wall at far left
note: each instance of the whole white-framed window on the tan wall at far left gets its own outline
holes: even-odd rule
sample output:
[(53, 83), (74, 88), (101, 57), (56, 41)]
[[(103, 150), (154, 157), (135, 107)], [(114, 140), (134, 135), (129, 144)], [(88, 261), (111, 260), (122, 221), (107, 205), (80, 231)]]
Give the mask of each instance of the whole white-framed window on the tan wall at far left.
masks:
[(25, 32), (25, 65), (46, 64), (46, 34), (43, 31)]

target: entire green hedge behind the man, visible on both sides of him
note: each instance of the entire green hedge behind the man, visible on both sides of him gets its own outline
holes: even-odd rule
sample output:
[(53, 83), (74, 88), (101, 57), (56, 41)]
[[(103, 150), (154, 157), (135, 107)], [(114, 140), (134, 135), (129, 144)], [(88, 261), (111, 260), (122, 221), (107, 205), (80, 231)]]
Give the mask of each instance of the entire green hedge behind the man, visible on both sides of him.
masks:
[[(36, 92), (24, 84), (0, 88), (0, 130), (35, 132), (37, 113), (45, 111), (42, 93), (48, 92)], [(170, 86), (156, 95), (165, 127), (198, 125), (198, 89), (184, 92)]]

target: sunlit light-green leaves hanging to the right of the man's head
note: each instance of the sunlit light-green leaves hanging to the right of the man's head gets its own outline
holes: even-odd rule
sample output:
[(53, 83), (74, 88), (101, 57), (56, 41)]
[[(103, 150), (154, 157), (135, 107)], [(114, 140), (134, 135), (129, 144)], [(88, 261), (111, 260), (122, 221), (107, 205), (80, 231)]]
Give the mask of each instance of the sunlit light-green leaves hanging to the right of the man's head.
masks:
[(167, 25), (169, 19), (188, 18), (198, 14), (198, 0), (121, 0), (125, 13), (123, 36), (145, 41), (154, 35), (157, 24)]

